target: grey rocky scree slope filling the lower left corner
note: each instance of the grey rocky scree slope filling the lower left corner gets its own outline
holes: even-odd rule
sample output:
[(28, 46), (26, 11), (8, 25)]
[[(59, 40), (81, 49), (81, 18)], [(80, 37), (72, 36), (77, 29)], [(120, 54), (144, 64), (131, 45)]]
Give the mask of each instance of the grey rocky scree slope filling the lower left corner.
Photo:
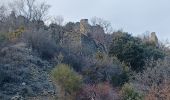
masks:
[(0, 100), (54, 93), (47, 61), (32, 54), (24, 43), (0, 51)]

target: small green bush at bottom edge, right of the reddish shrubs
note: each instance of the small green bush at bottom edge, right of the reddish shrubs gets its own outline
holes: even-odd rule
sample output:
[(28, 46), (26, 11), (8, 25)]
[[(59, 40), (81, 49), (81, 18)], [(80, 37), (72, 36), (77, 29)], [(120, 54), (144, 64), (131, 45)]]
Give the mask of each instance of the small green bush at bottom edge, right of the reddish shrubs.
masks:
[(123, 100), (143, 100), (143, 96), (137, 92), (132, 84), (125, 84), (121, 90)]

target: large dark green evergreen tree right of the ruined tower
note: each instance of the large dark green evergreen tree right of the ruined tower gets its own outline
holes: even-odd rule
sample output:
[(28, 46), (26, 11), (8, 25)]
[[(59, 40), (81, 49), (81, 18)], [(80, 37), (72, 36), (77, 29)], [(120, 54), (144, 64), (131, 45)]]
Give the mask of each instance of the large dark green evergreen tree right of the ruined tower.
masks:
[(164, 53), (158, 48), (147, 46), (139, 38), (122, 31), (115, 33), (109, 54), (135, 71), (143, 70), (147, 59), (157, 60), (164, 57)]

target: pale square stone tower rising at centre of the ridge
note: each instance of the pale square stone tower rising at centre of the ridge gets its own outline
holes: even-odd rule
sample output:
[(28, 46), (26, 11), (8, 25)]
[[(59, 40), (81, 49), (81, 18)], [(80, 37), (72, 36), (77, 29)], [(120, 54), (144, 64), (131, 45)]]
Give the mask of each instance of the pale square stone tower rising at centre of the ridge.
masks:
[(81, 19), (80, 20), (80, 33), (87, 36), (89, 32), (90, 32), (90, 25), (88, 23), (88, 19)]

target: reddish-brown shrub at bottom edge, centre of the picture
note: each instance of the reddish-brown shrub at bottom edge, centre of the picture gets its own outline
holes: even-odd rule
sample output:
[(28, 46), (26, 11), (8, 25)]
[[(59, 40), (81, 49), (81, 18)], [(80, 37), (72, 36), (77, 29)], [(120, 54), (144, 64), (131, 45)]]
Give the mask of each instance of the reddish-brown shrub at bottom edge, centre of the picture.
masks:
[(76, 100), (117, 100), (118, 94), (109, 83), (86, 84), (77, 95)]

